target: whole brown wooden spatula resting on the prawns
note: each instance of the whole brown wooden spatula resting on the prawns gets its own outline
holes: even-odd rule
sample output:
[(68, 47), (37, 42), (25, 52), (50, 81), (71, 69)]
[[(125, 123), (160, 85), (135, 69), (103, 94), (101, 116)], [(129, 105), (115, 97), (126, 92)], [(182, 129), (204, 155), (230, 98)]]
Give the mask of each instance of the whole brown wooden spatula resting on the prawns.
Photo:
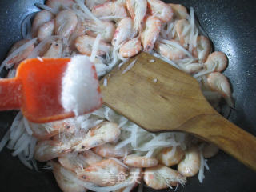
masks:
[(146, 53), (122, 74), (130, 62), (106, 75), (107, 86), (102, 79), (106, 106), (151, 132), (194, 134), (256, 170), (256, 138), (222, 118), (194, 78)]

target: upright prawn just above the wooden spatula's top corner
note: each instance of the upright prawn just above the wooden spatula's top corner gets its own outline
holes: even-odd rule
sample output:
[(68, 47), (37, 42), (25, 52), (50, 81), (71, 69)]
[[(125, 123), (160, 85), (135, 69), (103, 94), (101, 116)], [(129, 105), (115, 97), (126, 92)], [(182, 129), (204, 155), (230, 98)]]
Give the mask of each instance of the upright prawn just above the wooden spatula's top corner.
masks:
[(158, 38), (160, 30), (161, 30), (161, 21), (157, 17), (150, 16), (146, 18), (146, 26), (141, 34), (144, 51), (150, 52), (151, 50), (153, 50), (154, 43)]

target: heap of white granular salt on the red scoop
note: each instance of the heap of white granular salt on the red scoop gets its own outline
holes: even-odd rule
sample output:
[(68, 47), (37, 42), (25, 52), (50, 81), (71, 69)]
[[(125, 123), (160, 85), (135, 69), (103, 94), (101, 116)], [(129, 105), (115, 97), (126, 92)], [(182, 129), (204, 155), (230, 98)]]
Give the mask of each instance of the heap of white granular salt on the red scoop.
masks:
[(74, 56), (68, 63), (62, 78), (61, 102), (66, 112), (76, 116), (94, 110), (101, 105), (98, 79), (94, 63), (87, 56)]

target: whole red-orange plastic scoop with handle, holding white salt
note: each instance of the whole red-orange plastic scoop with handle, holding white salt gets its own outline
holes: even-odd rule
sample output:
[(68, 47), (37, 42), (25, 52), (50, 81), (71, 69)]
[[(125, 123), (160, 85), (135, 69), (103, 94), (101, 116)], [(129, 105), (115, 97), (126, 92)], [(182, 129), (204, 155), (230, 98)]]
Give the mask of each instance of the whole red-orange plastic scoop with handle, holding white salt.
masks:
[[(22, 62), (15, 78), (0, 80), (0, 110), (20, 109), (31, 122), (74, 117), (74, 112), (64, 110), (61, 102), (62, 77), (69, 62), (70, 58), (32, 58)], [(92, 68), (97, 78), (95, 67)], [(100, 94), (99, 88), (97, 91)], [(102, 98), (98, 98), (100, 101), (83, 112), (98, 109), (102, 105)]]

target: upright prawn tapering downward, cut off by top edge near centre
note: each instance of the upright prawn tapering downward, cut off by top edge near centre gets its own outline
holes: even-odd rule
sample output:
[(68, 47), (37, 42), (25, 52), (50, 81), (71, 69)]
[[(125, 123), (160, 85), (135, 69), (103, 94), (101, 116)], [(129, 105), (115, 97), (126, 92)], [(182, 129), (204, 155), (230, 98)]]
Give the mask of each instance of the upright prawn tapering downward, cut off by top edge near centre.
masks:
[(145, 18), (146, 15), (146, 0), (127, 0), (126, 5), (127, 10), (129, 10), (131, 18), (134, 19), (135, 30), (140, 31), (143, 24), (143, 19)]

